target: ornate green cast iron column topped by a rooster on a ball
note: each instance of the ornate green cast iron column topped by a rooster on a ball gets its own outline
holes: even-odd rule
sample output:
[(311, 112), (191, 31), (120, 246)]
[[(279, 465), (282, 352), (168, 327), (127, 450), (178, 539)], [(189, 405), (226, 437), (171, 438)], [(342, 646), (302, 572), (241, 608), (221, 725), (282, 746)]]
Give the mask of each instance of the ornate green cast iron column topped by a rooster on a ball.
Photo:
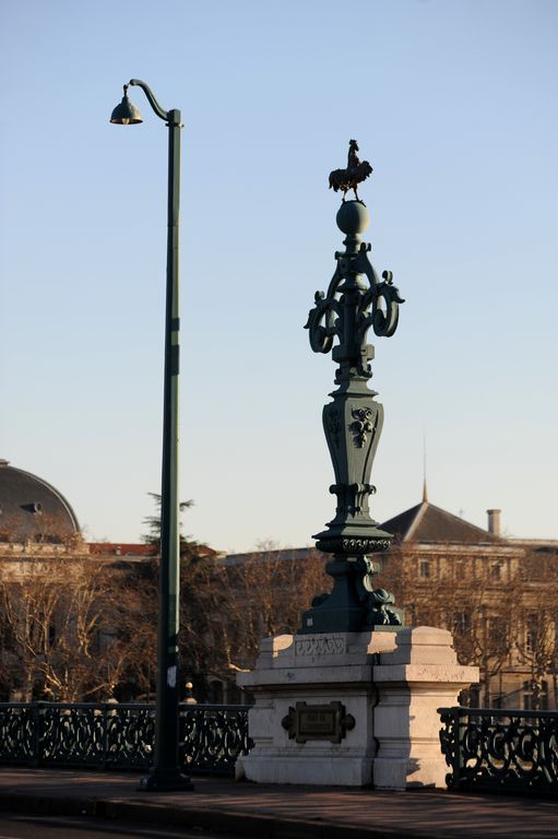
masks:
[[(355, 190), (371, 173), (371, 166), (356, 157), (352, 140), (347, 169), (330, 175), (335, 191)], [(336, 178), (336, 180), (335, 180)], [(333, 181), (333, 182), (332, 182)], [(359, 201), (345, 201), (337, 212), (337, 226), (346, 235), (345, 250), (335, 253), (336, 269), (327, 294), (316, 293), (305, 329), (316, 353), (329, 353), (339, 365), (333, 402), (323, 409), (323, 429), (328, 440), (335, 483), (330, 492), (337, 498), (335, 517), (327, 530), (313, 536), (317, 547), (333, 559), (327, 571), (334, 579), (331, 594), (320, 594), (302, 615), (301, 633), (360, 631), (378, 626), (402, 624), (402, 613), (392, 606), (392, 595), (373, 589), (371, 578), (379, 566), (370, 554), (385, 551), (391, 534), (370, 517), (368, 499), (376, 492), (370, 484), (372, 461), (383, 423), (383, 407), (370, 390), (369, 362), (373, 346), (367, 343), (370, 327), (377, 335), (390, 336), (397, 327), (399, 304), (404, 300), (392, 284), (391, 271), (382, 280), (371, 265), (370, 245), (360, 234), (370, 216)], [(334, 346), (334, 341), (337, 343)]]

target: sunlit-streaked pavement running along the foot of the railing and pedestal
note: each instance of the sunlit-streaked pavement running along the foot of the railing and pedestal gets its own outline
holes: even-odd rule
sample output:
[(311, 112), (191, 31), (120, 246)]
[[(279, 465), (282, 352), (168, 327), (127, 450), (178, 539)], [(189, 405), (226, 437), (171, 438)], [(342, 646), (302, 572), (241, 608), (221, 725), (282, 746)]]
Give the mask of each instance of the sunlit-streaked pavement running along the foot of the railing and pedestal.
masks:
[[(258, 839), (557, 839), (558, 801), (442, 790), (380, 792), (193, 778), (191, 792), (138, 790), (140, 776), (0, 768), (0, 811), (173, 825)], [(114, 823), (112, 823), (114, 824)]]

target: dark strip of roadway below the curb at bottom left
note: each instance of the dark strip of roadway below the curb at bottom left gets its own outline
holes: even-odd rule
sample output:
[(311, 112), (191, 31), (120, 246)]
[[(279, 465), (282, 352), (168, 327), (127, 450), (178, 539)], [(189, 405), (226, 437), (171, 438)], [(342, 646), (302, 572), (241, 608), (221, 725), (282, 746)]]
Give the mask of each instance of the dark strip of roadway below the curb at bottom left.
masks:
[(0, 839), (241, 839), (203, 828), (142, 827), (98, 818), (0, 814)]

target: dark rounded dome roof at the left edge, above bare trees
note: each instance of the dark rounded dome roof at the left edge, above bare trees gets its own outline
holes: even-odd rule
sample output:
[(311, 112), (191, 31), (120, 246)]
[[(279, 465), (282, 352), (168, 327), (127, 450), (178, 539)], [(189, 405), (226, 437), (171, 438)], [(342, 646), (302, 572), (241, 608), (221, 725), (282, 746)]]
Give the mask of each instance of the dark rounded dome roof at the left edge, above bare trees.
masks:
[(58, 489), (0, 460), (0, 541), (59, 543), (79, 533), (75, 513)]

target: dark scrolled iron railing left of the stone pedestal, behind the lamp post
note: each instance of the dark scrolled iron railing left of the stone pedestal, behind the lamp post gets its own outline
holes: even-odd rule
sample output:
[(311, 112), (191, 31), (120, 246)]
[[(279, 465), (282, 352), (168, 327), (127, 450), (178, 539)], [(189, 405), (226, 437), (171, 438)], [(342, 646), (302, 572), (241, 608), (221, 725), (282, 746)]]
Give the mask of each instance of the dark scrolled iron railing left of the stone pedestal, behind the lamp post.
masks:
[[(153, 705), (0, 702), (0, 764), (146, 769), (154, 736)], [(180, 706), (179, 754), (188, 772), (234, 775), (250, 745), (247, 706)]]

